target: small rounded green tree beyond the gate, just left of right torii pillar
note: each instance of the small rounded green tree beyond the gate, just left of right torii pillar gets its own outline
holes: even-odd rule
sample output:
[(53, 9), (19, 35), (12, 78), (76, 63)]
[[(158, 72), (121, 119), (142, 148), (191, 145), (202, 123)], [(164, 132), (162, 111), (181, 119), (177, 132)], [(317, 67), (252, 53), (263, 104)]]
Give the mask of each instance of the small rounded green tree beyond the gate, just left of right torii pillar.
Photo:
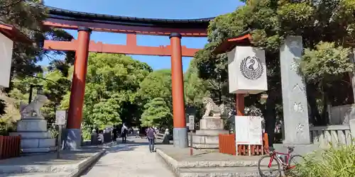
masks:
[(173, 115), (163, 98), (153, 98), (144, 105), (144, 109), (141, 117), (143, 127), (173, 127)]

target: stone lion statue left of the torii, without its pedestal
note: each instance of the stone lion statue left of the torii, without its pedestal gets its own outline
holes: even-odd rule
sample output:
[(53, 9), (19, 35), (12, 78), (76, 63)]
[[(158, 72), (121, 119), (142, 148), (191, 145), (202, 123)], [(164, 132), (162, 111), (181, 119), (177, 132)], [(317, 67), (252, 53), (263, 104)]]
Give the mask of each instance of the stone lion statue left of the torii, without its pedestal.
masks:
[(33, 116), (33, 113), (35, 113), (35, 116), (37, 117), (42, 117), (42, 113), (40, 113), (40, 108), (42, 108), (47, 101), (47, 96), (37, 95), (35, 96), (33, 101), (28, 105), (20, 103), (21, 118), (31, 117)]

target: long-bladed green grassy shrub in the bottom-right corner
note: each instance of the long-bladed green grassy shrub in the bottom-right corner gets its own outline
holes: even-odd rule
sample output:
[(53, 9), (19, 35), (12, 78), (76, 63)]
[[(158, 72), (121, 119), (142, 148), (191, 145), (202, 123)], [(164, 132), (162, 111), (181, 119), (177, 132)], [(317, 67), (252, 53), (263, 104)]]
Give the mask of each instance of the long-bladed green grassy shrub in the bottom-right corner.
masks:
[(300, 177), (353, 177), (355, 176), (355, 145), (330, 147), (322, 152), (305, 156), (297, 168)]

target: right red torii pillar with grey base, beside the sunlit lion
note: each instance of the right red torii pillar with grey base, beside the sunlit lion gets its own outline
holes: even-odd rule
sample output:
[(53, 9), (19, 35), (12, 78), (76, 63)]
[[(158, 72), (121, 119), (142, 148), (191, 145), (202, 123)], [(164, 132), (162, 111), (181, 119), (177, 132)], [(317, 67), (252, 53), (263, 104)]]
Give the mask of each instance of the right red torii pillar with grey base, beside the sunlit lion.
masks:
[(181, 34), (171, 33), (169, 38), (172, 51), (171, 86), (173, 95), (174, 147), (185, 148), (188, 144), (185, 120), (184, 79), (182, 74)]

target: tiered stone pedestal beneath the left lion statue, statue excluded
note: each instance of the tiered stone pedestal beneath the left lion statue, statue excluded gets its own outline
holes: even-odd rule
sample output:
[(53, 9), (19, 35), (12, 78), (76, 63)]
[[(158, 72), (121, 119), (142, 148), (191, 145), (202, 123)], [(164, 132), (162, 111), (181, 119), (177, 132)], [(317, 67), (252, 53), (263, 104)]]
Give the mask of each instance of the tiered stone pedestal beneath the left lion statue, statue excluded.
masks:
[(38, 117), (23, 118), (17, 122), (17, 132), (11, 136), (21, 135), (23, 153), (50, 152), (55, 150), (55, 138), (47, 130), (47, 120)]

